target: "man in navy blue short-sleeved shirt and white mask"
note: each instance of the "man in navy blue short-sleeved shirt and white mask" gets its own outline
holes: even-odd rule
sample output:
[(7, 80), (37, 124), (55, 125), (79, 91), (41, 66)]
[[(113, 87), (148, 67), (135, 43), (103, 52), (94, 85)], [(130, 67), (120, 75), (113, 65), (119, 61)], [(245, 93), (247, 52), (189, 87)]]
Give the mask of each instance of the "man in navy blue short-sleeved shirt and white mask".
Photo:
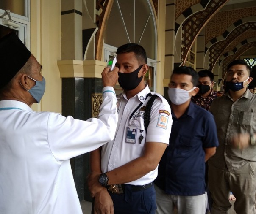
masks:
[(173, 125), (170, 144), (159, 163), (156, 214), (205, 214), (207, 193), (205, 162), (218, 146), (214, 118), (191, 102), (199, 89), (198, 73), (191, 67), (173, 70), (169, 84)]

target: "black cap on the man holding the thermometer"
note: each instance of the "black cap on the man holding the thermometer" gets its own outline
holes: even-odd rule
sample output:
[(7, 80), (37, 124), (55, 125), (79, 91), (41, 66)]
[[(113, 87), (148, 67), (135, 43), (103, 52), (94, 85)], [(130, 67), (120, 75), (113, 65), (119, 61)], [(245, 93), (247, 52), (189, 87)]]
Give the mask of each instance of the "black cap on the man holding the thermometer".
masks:
[(31, 56), (31, 52), (15, 33), (0, 38), (0, 89), (18, 73)]

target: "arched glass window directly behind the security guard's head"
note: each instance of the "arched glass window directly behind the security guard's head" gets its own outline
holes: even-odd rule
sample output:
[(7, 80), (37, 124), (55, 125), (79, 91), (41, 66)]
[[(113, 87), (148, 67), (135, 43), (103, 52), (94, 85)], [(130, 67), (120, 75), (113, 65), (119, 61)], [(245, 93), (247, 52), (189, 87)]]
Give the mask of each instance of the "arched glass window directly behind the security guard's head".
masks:
[(156, 21), (150, 0), (114, 0), (104, 36), (105, 61), (117, 47), (126, 43), (138, 43), (144, 47), (150, 66), (146, 80), (155, 91)]

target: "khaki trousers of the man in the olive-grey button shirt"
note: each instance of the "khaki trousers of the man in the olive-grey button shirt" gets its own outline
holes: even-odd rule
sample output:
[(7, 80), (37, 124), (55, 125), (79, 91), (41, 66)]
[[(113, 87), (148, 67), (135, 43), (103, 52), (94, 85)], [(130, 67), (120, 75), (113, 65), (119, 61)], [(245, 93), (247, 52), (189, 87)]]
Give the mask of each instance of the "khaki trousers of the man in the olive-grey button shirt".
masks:
[(228, 214), (231, 208), (228, 200), (230, 190), (237, 198), (234, 203), (237, 214), (256, 214), (256, 162), (248, 162), (234, 171), (208, 164), (209, 190), (213, 201), (211, 214)]

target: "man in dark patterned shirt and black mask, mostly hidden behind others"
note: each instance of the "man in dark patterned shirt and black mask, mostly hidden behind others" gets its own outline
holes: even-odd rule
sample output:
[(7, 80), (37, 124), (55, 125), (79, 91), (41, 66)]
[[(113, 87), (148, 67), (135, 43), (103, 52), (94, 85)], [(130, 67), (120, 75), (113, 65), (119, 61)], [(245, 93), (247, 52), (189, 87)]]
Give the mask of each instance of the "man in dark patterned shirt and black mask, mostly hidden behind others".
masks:
[(199, 92), (191, 98), (191, 101), (209, 111), (212, 100), (218, 96), (217, 91), (213, 90), (214, 75), (210, 70), (200, 70), (198, 75), (199, 79), (197, 87), (199, 88)]

